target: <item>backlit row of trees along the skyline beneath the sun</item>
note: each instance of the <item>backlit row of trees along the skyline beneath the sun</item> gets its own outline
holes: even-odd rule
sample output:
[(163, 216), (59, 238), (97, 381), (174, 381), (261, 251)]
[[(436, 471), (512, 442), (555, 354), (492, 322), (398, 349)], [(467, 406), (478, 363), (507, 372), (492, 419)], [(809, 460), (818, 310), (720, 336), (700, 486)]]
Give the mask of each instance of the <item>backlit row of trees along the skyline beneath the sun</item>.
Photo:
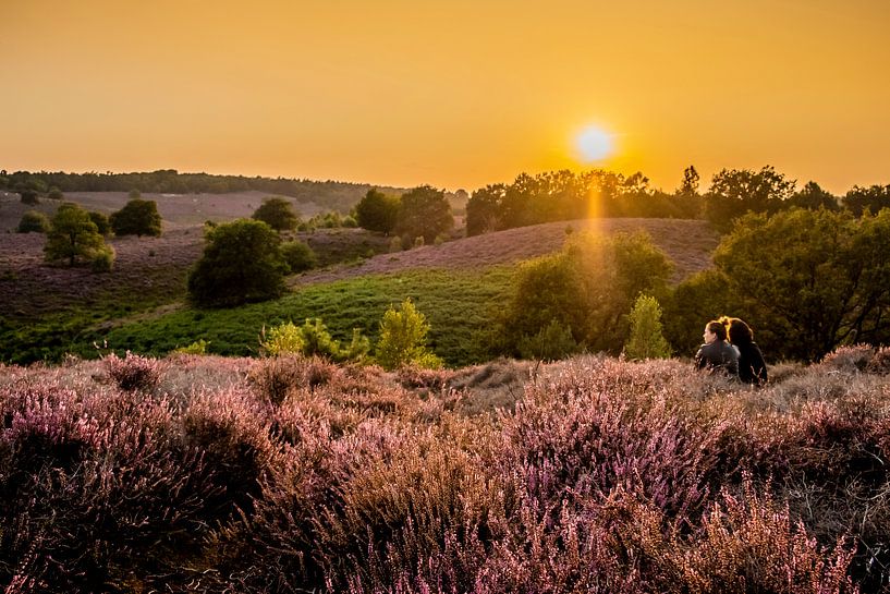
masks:
[(648, 178), (639, 172), (629, 177), (604, 169), (520, 173), (511, 184), (490, 184), (472, 194), (466, 233), (589, 217), (704, 218), (727, 232), (734, 219), (747, 213), (845, 208), (858, 217), (866, 210), (890, 207), (890, 185), (855, 185), (836, 196), (813, 181), (797, 190), (795, 180), (771, 166), (759, 171), (723, 169), (715, 173), (707, 192), (700, 192), (699, 182), (692, 166), (671, 193), (650, 187)]

